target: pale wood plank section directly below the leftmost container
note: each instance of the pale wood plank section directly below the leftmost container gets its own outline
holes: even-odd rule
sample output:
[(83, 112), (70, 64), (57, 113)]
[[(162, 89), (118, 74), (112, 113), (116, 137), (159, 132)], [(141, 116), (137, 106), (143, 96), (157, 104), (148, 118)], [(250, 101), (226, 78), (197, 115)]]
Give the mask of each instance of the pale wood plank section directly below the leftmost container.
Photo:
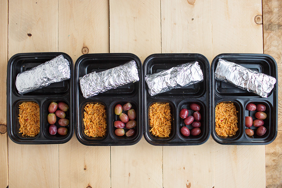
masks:
[(20, 145), (9, 139), (9, 187), (59, 187), (58, 145)]

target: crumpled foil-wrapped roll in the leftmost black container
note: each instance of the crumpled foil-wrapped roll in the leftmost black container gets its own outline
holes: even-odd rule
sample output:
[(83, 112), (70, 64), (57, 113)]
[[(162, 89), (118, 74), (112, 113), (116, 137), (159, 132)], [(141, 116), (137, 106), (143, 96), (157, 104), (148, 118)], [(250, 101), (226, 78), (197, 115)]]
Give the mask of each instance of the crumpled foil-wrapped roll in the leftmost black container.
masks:
[(19, 73), (16, 77), (16, 88), (19, 94), (25, 94), (68, 79), (70, 79), (70, 63), (63, 55), (59, 55), (30, 70)]

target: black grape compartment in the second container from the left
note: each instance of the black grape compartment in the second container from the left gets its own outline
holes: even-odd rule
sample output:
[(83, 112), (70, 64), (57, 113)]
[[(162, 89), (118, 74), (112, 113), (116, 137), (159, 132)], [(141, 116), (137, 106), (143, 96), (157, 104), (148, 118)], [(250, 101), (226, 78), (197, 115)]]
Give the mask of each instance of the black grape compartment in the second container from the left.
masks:
[[(119, 118), (119, 115), (116, 115), (115, 114), (115, 107), (116, 107), (116, 105), (118, 105), (118, 104), (120, 104), (120, 105), (124, 105), (124, 104), (126, 104), (126, 103), (130, 103), (131, 104), (131, 109), (134, 109), (135, 110), (135, 112), (136, 112), (136, 118), (134, 119), (135, 121), (136, 121), (136, 126), (133, 128), (134, 130), (135, 130), (135, 133), (133, 134), (133, 136), (130, 136), (130, 137), (127, 137), (125, 134), (123, 135), (123, 136), (117, 136), (116, 134), (115, 134), (115, 130), (117, 129), (117, 128), (115, 128), (114, 127), (114, 122), (115, 121), (120, 121), (120, 118)], [(114, 138), (114, 139), (116, 139), (116, 140), (118, 140), (118, 141), (124, 141), (124, 140), (134, 140), (134, 139), (136, 139), (137, 137), (138, 137), (138, 134), (139, 134), (139, 124), (140, 124), (140, 122), (138, 121), (139, 120), (139, 107), (138, 107), (138, 105), (137, 105), (137, 103), (136, 102), (134, 102), (134, 101), (130, 101), (130, 100), (126, 100), (126, 101), (124, 101), (124, 100), (122, 100), (122, 101), (115, 101), (115, 102), (113, 102), (112, 103), (112, 105), (111, 105), (111, 111), (110, 111), (110, 114), (111, 114), (111, 122), (110, 122), (110, 127), (111, 127), (111, 136), (112, 136), (112, 138)], [(127, 115), (127, 112), (128, 111), (124, 111), (123, 110), (123, 113), (125, 113), (126, 115)], [(130, 119), (129, 119), (129, 121), (130, 121)], [(126, 124), (126, 123), (124, 123), (124, 124)], [(123, 128), (124, 129), (124, 132), (126, 133), (129, 129), (128, 128), (126, 128), (126, 127), (124, 127)]]

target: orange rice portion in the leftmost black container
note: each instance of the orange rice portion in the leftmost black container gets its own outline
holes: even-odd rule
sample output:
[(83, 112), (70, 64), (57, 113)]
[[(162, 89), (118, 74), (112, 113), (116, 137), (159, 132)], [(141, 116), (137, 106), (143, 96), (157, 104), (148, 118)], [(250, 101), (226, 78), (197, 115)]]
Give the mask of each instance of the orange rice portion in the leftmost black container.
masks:
[(20, 124), (19, 133), (23, 133), (22, 136), (31, 137), (39, 134), (39, 105), (36, 102), (23, 102), (18, 108), (18, 122)]

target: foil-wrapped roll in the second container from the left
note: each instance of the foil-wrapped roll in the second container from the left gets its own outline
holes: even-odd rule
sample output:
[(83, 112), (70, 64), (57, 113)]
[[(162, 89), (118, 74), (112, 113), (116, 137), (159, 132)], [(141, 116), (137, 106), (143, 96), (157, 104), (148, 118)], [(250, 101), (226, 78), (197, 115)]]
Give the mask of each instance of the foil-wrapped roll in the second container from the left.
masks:
[(81, 92), (85, 98), (135, 81), (139, 81), (139, 76), (134, 60), (102, 72), (91, 72), (79, 78)]

